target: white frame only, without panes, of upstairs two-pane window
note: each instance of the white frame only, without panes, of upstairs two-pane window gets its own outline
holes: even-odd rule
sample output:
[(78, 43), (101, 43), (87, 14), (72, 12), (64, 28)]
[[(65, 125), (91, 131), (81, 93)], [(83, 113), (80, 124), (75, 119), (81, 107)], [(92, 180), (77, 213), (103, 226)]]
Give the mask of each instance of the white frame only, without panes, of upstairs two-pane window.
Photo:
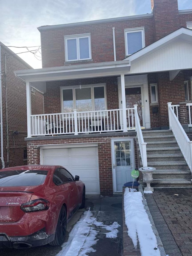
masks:
[[(79, 52), (79, 38), (88, 38), (89, 41), (89, 58), (86, 59), (91, 59), (91, 34), (79, 34), (79, 35), (67, 35), (64, 36), (64, 43), (65, 43), (65, 61), (81, 61), (81, 60), (86, 60), (86, 59), (80, 59), (80, 52)], [(67, 51), (67, 40), (68, 39), (76, 39), (77, 40), (77, 59), (73, 60), (68, 60), (68, 51)]]

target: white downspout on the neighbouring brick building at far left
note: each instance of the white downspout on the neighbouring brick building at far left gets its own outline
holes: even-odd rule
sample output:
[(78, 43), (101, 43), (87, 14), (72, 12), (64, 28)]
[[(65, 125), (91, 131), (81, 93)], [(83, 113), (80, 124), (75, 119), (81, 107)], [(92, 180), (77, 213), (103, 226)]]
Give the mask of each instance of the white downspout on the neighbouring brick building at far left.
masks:
[(1, 45), (0, 45), (0, 125), (1, 125), (1, 164), (2, 169), (5, 167), (4, 157), (3, 157), (3, 112), (2, 112), (2, 83), (1, 83)]

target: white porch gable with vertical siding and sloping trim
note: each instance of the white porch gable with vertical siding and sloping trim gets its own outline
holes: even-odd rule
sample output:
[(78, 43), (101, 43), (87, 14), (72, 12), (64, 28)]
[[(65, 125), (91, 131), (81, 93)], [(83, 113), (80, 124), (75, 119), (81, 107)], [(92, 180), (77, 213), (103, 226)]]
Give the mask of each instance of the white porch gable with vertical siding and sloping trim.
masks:
[(179, 70), (192, 68), (191, 56), (192, 30), (180, 28), (126, 59), (130, 74), (171, 71), (173, 77)]

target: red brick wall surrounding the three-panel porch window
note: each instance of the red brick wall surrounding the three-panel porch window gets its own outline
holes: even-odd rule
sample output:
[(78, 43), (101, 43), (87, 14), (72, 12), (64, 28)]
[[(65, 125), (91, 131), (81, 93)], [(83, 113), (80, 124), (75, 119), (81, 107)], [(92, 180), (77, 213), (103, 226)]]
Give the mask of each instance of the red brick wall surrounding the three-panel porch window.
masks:
[(118, 87), (114, 85), (116, 77), (98, 77), (79, 80), (64, 80), (46, 82), (46, 93), (44, 95), (44, 110), (48, 113), (61, 113), (60, 87), (79, 86), (106, 83), (107, 109), (119, 108)]

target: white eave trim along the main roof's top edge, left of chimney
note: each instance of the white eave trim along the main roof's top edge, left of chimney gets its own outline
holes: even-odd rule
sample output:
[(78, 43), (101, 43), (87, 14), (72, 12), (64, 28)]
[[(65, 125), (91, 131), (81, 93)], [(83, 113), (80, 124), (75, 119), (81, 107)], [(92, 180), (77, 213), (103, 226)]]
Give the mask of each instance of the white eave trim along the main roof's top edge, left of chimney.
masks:
[(153, 14), (150, 13), (150, 14), (103, 19), (103, 20), (91, 20), (91, 21), (83, 21), (83, 22), (68, 23), (68, 24), (47, 25), (47, 26), (38, 27), (37, 29), (41, 32), (47, 29), (61, 29), (61, 28), (72, 27), (72, 26), (75, 26), (75, 27), (86, 26), (86, 25), (99, 24), (99, 23), (118, 22), (118, 21), (125, 21), (125, 20), (138, 20), (138, 19), (145, 19), (145, 18), (152, 18), (152, 17), (153, 17)]

